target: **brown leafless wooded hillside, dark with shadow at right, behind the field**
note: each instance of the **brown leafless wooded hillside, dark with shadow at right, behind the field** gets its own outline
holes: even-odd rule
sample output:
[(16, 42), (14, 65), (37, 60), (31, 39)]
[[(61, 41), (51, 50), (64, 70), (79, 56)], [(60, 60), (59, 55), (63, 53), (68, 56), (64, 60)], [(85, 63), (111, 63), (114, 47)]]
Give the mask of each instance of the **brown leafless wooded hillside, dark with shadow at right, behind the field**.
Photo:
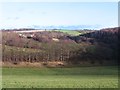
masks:
[[(3, 32), (3, 62), (65, 61), (73, 64), (118, 63), (120, 27), (71, 36), (58, 31)], [(86, 31), (85, 31), (86, 32)]]

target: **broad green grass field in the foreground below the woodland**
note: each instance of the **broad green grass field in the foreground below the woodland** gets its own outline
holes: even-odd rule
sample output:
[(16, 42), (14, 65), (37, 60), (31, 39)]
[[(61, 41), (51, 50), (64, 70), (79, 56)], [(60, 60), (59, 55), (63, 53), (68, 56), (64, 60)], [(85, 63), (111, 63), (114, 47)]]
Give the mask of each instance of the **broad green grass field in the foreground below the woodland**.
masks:
[(3, 68), (3, 88), (117, 88), (115, 66)]

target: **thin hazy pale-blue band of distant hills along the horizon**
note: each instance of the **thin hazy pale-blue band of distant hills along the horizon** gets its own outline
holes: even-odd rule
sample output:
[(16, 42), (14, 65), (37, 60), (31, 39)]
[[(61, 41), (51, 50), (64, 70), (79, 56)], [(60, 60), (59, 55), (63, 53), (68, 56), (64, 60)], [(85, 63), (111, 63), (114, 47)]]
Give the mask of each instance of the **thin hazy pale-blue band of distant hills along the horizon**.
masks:
[(84, 29), (92, 29), (98, 30), (101, 28), (100, 25), (50, 25), (50, 26), (42, 26), (42, 25), (31, 25), (26, 27), (2, 27), (1, 29), (65, 29), (65, 30), (84, 30)]

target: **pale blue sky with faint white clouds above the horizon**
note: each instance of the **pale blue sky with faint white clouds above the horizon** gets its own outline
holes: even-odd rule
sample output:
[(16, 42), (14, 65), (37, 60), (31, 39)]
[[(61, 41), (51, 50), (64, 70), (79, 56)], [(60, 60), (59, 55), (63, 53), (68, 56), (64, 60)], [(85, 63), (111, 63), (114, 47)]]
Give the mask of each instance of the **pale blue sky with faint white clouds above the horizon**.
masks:
[(32, 25), (118, 26), (117, 2), (4, 2), (0, 28)]

